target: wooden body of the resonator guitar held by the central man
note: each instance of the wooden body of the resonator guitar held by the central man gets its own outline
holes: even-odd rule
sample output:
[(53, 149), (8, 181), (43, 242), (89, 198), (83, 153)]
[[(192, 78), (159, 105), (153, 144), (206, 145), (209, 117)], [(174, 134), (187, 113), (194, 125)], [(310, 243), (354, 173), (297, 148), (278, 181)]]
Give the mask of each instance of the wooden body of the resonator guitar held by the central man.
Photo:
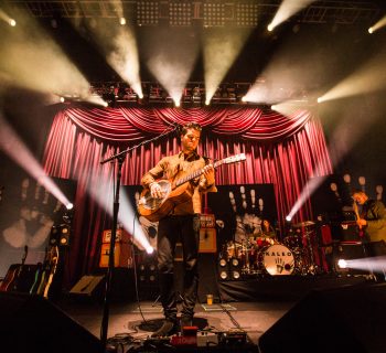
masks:
[(150, 194), (150, 190), (142, 191), (138, 212), (141, 216), (150, 222), (158, 222), (167, 216), (178, 204), (184, 203), (192, 199), (193, 190), (191, 184), (184, 183), (173, 189), (173, 183), (169, 180), (160, 180), (158, 183), (161, 186), (163, 197), (154, 199)]

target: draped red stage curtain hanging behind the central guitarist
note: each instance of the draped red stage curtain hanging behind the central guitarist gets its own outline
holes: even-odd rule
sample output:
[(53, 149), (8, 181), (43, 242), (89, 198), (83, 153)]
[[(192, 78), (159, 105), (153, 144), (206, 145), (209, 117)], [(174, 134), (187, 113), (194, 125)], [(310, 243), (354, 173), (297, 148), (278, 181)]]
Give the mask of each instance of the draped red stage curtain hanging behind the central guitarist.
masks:
[[(246, 107), (71, 108), (60, 111), (46, 142), (44, 168), (50, 175), (78, 181), (71, 277), (76, 279), (97, 266), (105, 212), (89, 197), (89, 191), (106, 184), (112, 193), (114, 181), (112, 164), (100, 165), (99, 162), (125, 148), (172, 131), (175, 122), (192, 120), (204, 127), (200, 153), (214, 159), (242, 152), (247, 157), (244, 163), (221, 167), (216, 172), (217, 184), (274, 183), (281, 224), (307, 181), (332, 171), (321, 124), (317, 115), (308, 110), (289, 117)], [(178, 152), (179, 147), (174, 133), (140, 145), (127, 154), (122, 184), (139, 184), (148, 169), (162, 156)], [(294, 221), (311, 217), (307, 202)]]

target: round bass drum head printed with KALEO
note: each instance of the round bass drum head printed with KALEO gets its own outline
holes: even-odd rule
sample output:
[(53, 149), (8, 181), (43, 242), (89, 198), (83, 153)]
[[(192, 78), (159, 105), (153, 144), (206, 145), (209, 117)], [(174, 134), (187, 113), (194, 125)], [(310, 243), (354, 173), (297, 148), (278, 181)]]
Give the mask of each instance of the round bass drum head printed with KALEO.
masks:
[(291, 275), (294, 269), (292, 252), (285, 245), (275, 244), (262, 250), (262, 266), (271, 276)]

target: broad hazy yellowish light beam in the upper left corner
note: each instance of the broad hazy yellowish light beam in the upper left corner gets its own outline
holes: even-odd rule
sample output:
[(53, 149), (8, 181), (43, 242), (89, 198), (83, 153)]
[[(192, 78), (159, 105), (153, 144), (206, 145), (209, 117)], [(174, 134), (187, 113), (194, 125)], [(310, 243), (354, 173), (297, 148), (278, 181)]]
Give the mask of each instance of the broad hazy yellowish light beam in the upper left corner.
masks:
[[(13, 19), (7, 22), (17, 24)], [(87, 95), (87, 79), (33, 18), (20, 13), (18, 26), (2, 40), (0, 66), (12, 84), (39, 93)]]

